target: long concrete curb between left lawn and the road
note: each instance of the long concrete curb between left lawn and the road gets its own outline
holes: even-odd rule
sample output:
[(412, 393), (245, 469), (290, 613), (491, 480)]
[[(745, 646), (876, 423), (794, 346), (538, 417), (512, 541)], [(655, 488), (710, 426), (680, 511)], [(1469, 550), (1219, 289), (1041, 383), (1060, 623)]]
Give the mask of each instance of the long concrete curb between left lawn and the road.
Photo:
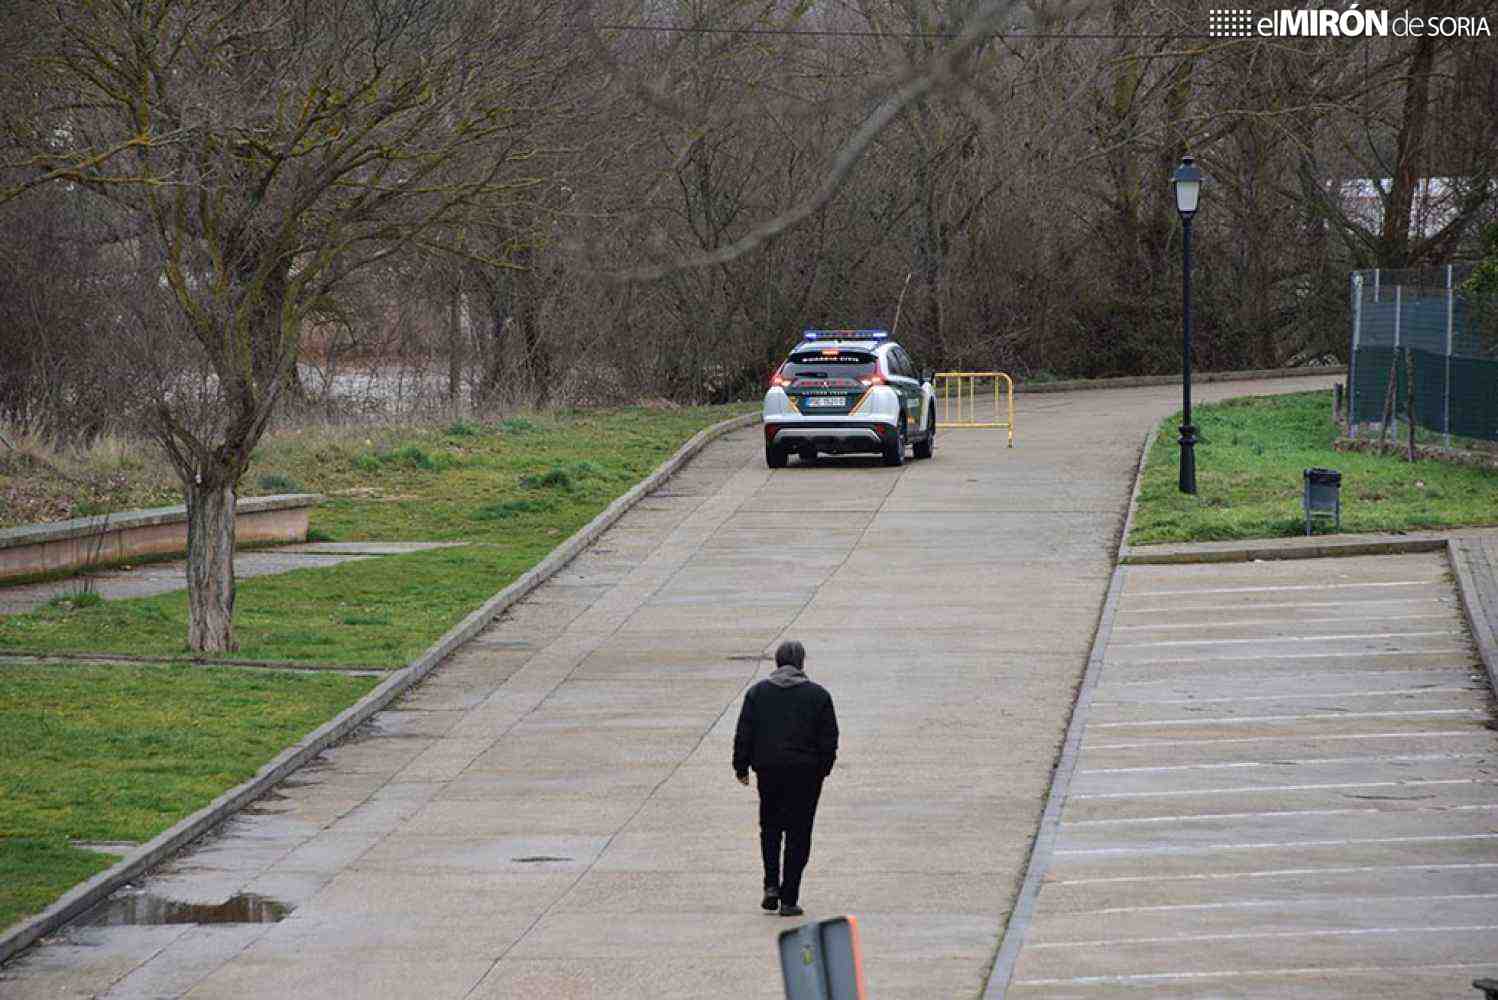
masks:
[(487, 626), (494, 615), (518, 602), (538, 585), (545, 582), (553, 573), (572, 561), (578, 552), (592, 545), (593, 540), (613, 525), (614, 521), (623, 516), (629, 507), (676, 475), (683, 464), (697, 455), (697, 452), (703, 451), (703, 448), (706, 448), (710, 442), (756, 422), (759, 422), (758, 413), (746, 413), (698, 431), (653, 473), (608, 504), (602, 513), (589, 521), (572, 537), (553, 549), (550, 555), (521, 575), (515, 582), (485, 600), (478, 611), (449, 629), (448, 633), (437, 639), (437, 642), (433, 644), (425, 653), (392, 674), (358, 702), (343, 710), (337, 717), (324, 723), (316, 731), (279, 753), (276, 759), (256, 771), (255, 777), (243, 784), (238, 784), (237, 787), (229, 789), (204, 808), (180, 820), (166, 832), (159, 834), (148, 843), (135, 849), (129, 856), (121, 859), (108, 871), (100, 871), (93, 879), (88, 879), (88, 882), (73, 886), (60, 900), (52, 903), (52, 906), (46, 907), (31, 919), (16, 924), (6, 930), (4, 934), (0, 934), (0, 963), (9, 961), (16, 952), (34, 943), (39, 937), (55, 931), (69, 921), (93, 909), (121, 885), (139, 877), (181, 847), (198, 840), (205, 832), (234, 816), (234, 813), (268, 792), (274, 784), (286, 778), (297, 768), (303, 766), (330, 746), (346, 737), (355, 728), (367, 722), (374, 713), (385, 708), (389, 702), (430, 674), (437, 663), (445, 660), (457, 647), (478, 635), (478, 632)]

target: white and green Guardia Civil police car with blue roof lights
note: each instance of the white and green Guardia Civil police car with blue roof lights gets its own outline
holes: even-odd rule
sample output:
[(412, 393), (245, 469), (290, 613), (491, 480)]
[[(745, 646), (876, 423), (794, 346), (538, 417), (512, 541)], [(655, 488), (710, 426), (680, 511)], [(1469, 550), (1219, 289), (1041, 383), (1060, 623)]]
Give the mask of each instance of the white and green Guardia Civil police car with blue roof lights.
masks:
[(882, 329), (809, 329), (764, 394), (764, 461), (783, 469), (794, 452), (873, 452), (885, 466), (930, 458), (936, 404), (930, 380)]

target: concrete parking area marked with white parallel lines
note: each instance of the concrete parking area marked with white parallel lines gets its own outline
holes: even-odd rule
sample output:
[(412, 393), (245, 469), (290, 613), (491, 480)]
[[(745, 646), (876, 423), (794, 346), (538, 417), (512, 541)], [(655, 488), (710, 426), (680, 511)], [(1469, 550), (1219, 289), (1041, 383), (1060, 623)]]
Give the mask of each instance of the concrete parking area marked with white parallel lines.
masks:
[(1124, 573), (1007, 996), (1498, 976), (1498, 734), (1444, 552)]

